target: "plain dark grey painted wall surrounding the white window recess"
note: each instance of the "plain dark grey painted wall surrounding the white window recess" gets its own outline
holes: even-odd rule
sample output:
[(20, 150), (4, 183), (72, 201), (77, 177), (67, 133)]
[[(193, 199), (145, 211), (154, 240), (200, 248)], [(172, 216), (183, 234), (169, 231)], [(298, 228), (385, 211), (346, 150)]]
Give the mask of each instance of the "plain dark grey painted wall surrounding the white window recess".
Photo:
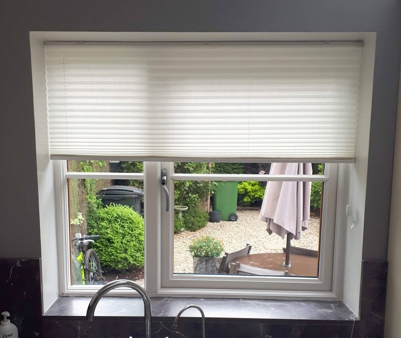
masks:
[(0, 3), (0, 257), (40, 257), (29, 31), (377, 32), (364, 259), (387, 255), (397, 104), (398, 0)]

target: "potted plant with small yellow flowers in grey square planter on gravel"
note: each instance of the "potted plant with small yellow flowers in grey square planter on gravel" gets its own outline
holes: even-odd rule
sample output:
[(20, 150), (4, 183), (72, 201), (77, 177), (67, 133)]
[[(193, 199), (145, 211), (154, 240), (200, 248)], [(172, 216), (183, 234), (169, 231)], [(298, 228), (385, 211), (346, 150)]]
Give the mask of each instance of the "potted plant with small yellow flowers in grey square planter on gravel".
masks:
[(223, 243), (212, 236), (197, 237), (189, 244), (193, 257), (193, 273), (217, 273), (224, 251)]

